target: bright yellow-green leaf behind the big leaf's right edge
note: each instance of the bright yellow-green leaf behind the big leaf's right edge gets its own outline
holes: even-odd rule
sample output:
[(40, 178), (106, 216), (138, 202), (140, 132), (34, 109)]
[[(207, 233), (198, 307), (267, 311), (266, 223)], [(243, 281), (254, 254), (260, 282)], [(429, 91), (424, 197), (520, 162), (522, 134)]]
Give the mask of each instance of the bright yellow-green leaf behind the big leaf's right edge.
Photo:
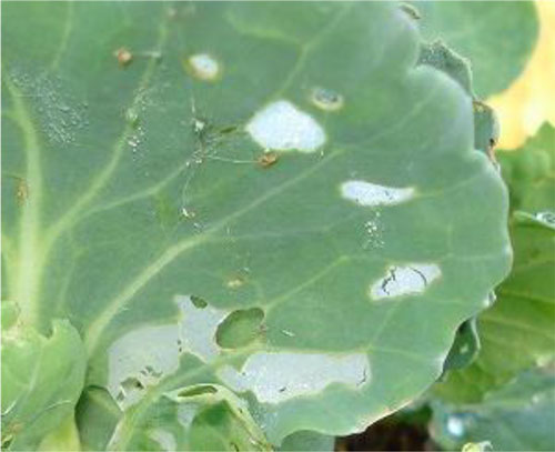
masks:
[(496, 290), (497, 301), (478, 318), (482, 351), (467, 369), (450, 372), (435, 394), (477, 402), (518, 372), (555, 359), (555, 129), (544, 125), (523, 149), (500, 152), (514, 211), (515, 261)]

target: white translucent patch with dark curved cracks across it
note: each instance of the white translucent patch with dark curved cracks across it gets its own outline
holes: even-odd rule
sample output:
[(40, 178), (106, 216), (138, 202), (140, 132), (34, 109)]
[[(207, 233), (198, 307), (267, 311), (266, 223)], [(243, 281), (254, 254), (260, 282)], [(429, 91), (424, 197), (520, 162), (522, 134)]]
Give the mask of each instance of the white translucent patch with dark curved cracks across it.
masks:
[(435, 263), (412, 263), (404, 267), (393, 265), (387, 274), (372, 284), (370, 295), (373, 300), (422, 293), (428, 284), (440, 278), (442, 271)]

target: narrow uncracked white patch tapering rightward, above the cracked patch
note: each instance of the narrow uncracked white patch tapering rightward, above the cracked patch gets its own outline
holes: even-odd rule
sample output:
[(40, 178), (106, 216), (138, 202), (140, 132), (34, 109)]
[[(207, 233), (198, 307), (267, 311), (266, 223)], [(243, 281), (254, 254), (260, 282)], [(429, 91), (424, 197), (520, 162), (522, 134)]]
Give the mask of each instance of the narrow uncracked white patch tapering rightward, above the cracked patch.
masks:
[(398, 204), (413, 198), (414, 192), (412, 187), (401, 189), (365, 181), (346, 181), (341, 184), (343, 198), (364, 207)]

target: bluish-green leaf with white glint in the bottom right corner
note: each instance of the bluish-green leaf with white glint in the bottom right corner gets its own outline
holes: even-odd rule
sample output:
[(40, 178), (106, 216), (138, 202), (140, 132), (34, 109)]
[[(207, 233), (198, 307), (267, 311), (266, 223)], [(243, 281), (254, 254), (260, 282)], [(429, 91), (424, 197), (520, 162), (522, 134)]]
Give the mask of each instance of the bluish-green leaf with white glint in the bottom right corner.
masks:
[(553, 451), (554, 404), (553, 371), (525, 372), (477, 404), (434, 402), (431, 431), (445, 450), (473, 442), (491, 443), (494, 451)]

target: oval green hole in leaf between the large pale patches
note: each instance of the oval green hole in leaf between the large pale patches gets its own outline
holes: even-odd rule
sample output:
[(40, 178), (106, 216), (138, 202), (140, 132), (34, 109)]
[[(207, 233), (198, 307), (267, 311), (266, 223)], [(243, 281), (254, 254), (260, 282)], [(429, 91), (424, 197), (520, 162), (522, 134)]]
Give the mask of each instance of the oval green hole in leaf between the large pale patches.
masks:
[(218, 325), (215, 342), (224, 349), (244, 346), (260, 334), (263, 319), (260, 308), (233, 311)]

